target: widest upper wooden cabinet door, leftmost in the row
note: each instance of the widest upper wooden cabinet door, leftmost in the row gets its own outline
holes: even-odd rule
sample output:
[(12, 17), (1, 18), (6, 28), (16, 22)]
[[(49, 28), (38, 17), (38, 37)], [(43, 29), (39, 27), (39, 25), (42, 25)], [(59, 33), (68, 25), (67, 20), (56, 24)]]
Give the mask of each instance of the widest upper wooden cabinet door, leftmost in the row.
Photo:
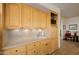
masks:
[(5, 4), (5, 26), (8, 29), (20, 28), (21, 26), (20, 4)]

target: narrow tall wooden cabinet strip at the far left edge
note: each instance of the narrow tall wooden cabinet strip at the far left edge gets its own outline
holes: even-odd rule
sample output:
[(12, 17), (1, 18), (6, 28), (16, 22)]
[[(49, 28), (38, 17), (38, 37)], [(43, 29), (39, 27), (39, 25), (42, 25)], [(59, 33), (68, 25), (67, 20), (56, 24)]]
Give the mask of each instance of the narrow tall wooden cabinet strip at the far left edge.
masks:
[(2, 50), (3, 44), (3, 29), (4, 29), (4, 5), (0, 3), (0, 51)]

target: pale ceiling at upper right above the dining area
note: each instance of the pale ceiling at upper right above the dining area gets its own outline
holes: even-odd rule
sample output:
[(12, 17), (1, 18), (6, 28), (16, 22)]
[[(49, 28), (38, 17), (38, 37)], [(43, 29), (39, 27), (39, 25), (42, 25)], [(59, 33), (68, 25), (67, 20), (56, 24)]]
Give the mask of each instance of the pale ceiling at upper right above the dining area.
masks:
[(52, 3), (61, 10), (63, 17), (79, 16), (79, 3)]

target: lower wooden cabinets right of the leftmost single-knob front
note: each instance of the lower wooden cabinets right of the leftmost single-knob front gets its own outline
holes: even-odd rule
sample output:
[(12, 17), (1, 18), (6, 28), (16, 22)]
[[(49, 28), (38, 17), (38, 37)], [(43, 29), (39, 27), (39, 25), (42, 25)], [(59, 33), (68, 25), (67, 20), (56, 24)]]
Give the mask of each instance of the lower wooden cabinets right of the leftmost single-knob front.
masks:
[(41, 40), (26, 46), (27, 55), (45, 55), (50, 51), (49, 40)]

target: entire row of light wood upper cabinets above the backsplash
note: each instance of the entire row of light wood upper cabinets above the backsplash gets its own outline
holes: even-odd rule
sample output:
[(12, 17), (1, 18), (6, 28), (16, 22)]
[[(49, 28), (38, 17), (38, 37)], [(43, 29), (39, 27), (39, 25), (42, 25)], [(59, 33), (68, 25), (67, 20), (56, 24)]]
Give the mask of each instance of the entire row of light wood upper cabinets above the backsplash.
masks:
[(5, 4), (6, 29), (47, 28), (47, 17), (47, 12), (26, 4)]

